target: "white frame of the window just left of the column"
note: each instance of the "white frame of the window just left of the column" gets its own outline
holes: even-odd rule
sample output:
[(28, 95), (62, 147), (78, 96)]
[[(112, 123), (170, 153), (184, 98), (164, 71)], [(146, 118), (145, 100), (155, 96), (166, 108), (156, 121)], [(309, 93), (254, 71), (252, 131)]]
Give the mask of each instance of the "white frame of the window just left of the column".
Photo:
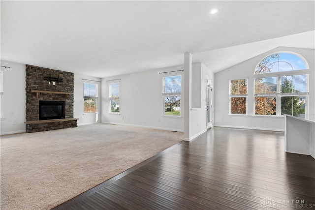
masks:
[[(175, 76), (181, 76), (181, 91), (180, 92), (174, 92), (174, 93), (165, 93), (165, 89), (164, 89), (164, 81), (165, 81), (165, 78), (166, 77), (175, 77)], [(162, 116), (163, 117), (169, 117), (169, 118), (181, 118), (183, 115), (183, 105), (181, 103), (182, 101), (182, 92), (183, 92), (183, 73), (182, 72), (173, 72), (173, 73), (167, 73), (167, 75), (165, 76), (162, 76)], [(179, 101), (180, 101), (180, 104), (179, 104), (179, 111), (180, 111), (180, 114), (179, 115), (167, 115), (165, 114), (165, 97), (167, 96), (171, 96), (171, 97), (179, 97)], [(178, 100), (177, 100), (178, 101)]]

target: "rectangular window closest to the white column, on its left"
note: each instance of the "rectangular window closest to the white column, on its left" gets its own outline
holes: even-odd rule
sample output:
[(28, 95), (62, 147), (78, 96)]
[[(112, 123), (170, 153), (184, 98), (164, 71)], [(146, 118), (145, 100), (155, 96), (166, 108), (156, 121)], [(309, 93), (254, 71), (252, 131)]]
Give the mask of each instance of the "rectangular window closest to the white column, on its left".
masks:
[(182, 75), (163, 77), (164, 116), (181, 116)]

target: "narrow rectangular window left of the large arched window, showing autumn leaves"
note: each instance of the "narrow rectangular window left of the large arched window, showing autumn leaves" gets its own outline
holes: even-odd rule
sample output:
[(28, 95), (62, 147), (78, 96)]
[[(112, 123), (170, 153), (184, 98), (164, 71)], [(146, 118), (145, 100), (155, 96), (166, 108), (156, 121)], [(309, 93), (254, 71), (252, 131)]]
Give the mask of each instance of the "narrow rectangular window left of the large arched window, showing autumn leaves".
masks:
[(230, 114), (246, 115), (247, 79), (230, 80)]

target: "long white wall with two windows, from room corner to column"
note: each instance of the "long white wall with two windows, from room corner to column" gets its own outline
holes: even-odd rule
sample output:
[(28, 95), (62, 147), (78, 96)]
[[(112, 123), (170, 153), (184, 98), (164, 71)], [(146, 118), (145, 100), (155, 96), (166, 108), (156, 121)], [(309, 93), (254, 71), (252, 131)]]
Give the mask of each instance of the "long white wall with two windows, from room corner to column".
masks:
[[(163, 130), (184, 131), (183, 115), (181, 117), (163, 116), (164, 104), (162, 98), (162, 77), (165, 76), (165, 74), (159, 74), (159, 72), (177, 71), (182, 70), (183, 68), (183, 66), (172, 66), (103, 78), (101, 83), (101, 121), (103, 123), (126, 124)], [(110, 114), (108, 107), (108, 82), (106, 82), (106, 80), (114, 79), (121, 79), (119, 114)], [(182, 102), (181, 110), (183, 110), (183, 107), (184, 104)]]

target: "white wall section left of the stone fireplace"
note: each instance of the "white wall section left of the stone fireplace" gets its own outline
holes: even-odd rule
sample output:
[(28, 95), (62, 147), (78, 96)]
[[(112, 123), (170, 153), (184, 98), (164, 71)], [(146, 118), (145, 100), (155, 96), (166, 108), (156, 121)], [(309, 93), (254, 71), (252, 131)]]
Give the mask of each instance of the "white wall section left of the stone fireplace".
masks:
[(22, 133), (26, 128), (25, 64), (1, 60), (1, 65), (10, 68), (1, 67), (4, 118), (0, 120), (0, 134)]

